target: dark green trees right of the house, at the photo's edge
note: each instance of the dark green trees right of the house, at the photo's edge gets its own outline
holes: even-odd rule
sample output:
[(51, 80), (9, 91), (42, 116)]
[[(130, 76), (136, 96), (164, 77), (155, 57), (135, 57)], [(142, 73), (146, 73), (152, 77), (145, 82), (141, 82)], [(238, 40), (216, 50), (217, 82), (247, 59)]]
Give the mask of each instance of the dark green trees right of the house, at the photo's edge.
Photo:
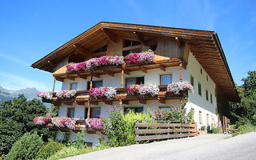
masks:
[(249, 71), (242, 81), (244, 89), (237, 87), (241, 102), (230, 102), (230, 120), (237, 126), (256, 125), (256, 71)]

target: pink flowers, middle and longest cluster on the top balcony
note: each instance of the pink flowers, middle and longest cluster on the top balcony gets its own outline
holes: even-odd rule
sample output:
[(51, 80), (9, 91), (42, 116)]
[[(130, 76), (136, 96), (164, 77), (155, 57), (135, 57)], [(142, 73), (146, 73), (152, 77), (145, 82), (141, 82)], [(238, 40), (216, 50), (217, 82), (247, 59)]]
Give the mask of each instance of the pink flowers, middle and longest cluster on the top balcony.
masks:
[(118, 66), (124, 63), (122, 56), (102, 56), (100, 58), (91, 58), (86, 61), (86, 70), (92, 72), (99, 66)]

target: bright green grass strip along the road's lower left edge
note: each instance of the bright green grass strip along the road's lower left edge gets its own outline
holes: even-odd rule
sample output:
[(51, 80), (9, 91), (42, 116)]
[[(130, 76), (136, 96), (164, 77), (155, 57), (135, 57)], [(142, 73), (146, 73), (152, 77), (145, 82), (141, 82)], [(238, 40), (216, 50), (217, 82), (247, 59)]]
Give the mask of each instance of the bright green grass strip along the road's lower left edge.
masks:
[(74, 146), (65, 146), (62, 150), (59, 150), (55, 154), (51, 155), (47, 160), (58, 160), (61, 158), (68, 158), (79, 154), (87, 154), (97, 150), (104, 150), (110, 148), (109, 146), (97, 146), (97, 147), (88, 147), (85, 149), (78, 149)]

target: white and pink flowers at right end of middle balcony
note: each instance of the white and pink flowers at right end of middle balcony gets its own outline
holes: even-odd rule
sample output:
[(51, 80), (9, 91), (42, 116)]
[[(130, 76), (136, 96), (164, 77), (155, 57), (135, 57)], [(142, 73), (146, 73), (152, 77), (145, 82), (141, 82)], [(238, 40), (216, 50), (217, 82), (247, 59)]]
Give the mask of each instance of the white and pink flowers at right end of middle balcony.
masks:
[(171, 83), (166, 89), (167, 92), (174, 94), (179, 94), (182, 90), (189, 90), (194, 93), (194, 87), (187, 81)]

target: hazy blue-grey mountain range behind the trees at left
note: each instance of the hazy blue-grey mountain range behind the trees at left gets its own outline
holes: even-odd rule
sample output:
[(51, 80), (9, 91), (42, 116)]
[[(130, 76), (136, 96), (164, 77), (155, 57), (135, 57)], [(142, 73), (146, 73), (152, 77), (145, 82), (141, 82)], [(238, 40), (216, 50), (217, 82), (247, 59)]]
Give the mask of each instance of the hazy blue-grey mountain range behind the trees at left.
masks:
[(22, 90), (7, 90), (0, 86), (0, 103), (18, 97), (18, 94), (24, 94), (27, 99), (38, 98), (38, 90), (35, 88), (25, 88)]

